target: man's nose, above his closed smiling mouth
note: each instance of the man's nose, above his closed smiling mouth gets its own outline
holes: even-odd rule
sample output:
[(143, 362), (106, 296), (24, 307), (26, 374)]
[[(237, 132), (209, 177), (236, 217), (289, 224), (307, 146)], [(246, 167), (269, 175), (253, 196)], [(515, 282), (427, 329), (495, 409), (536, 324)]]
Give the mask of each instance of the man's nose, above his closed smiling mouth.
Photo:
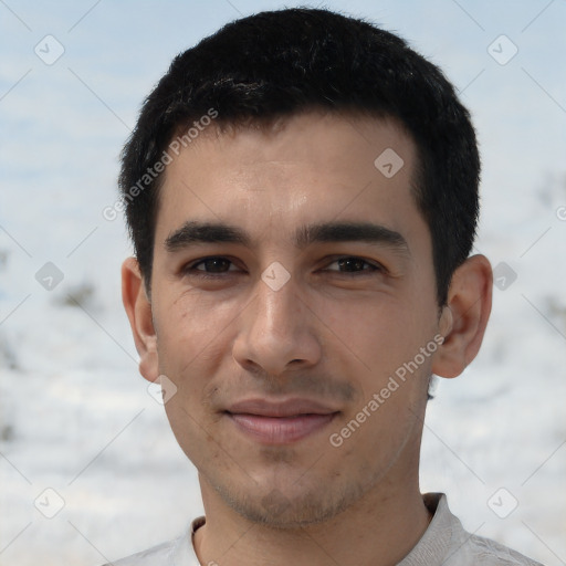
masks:
[(279, 377), (321, 359), (316, 316), (297, 296), (293, 280), (274, 291), (263, 281), (242, 312), (233, 357), (245, 370)]

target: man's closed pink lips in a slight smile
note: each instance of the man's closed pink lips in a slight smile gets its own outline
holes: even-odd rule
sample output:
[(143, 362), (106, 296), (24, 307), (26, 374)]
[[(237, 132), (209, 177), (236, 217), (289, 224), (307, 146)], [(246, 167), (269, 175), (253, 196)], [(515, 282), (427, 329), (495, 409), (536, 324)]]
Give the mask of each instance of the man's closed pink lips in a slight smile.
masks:
[(290, 444), (328, 424), (339, 412), (317, 401), (249, 399), (232, 405), (228, 417), (247, 436), (264, 444)]

